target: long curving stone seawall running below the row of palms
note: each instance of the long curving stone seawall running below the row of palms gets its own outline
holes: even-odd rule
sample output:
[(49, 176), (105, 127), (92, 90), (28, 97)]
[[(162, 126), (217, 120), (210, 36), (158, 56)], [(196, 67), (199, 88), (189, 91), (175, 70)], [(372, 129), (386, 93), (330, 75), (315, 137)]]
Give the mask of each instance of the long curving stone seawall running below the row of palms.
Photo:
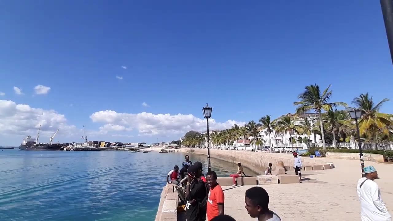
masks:
[[(208, 155), (207, 149), (182, 148), (182, 149), (176, 149), (176, 151)], [(250, 168), (251, 170), (253, 170), (258, 174), (263, 174), (265, 168), (269, 165), (269, 163), (272, 163), (273, 169), (277, 166), (277, 163), (280, 160), (284, 162), (284, 166), (292, 167), (294, 164), (294, 157), (291, 154), (284, 154), (284, 153), (261, 153), (261, 152), (251, 152), (251, 151), (231, 151), (231, 150), (211, 149), (210, 157), (224, 160), (227, 162), (233, 162), (233, 163), (240, 161), (243, 166)], [(323, 166), (323, 169), (331, 169), (334, 167), (332, 162), (327, 162), (321, 158), (301, 157), (301, 160), (303, 162), (303, 167), (316, 166), (316, 165)]]

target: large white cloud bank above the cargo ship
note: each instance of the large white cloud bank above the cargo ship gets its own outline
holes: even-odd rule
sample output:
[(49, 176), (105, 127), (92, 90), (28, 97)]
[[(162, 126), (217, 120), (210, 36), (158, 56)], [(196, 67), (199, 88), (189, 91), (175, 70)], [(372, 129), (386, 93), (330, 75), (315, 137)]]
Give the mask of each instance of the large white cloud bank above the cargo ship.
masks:
[(60, 131), (57, 136), (71, 136), (78, 132), (75, 126), (67, 124), (63, 114), (54, 110), (32, 108), (26, 104), (16, 104), (14, 101), (0, 100), (0, 134), (35, 136), (39, 125), (40, 134), (48, 139), (58, 128)]

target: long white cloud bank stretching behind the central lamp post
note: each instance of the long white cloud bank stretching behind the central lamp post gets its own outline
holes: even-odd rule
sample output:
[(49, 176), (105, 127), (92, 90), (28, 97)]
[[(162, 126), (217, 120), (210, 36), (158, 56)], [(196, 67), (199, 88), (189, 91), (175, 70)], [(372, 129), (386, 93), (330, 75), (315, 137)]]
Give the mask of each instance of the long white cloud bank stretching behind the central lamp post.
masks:
[[(169, 135), (184, 134), (187, 131), (206, 131), (206, 120), (196, 118), (192, 114), (152, 114), (142, 112), (139, 114), (117, 113), (113, 110), (105, 110), (93, 113), (90, 118), (93, 122), (106, 123), (103, 129), (137, 129), (139, 135)], [(228, 120), (226, 122), (216, 122), (214, 119), (209, 120), (210, 129), (227, 129), (235, 123), (244, 125), (245, 122)], [(124, 127), (118, 127), (124, 126)]]

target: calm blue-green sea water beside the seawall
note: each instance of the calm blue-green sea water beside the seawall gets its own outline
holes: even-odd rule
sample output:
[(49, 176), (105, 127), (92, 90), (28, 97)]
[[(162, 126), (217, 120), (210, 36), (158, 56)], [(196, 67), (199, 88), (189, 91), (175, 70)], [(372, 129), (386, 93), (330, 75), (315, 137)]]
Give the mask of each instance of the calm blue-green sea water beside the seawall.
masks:
[[(153, 221), (184, 153), (0, 151), (1, 221)], [(206, 156), (190, 154), (206, 169)], [(219, 176), (237, 166), (211, 158)], [(253, 175), (244, 168), (244, 172)]]

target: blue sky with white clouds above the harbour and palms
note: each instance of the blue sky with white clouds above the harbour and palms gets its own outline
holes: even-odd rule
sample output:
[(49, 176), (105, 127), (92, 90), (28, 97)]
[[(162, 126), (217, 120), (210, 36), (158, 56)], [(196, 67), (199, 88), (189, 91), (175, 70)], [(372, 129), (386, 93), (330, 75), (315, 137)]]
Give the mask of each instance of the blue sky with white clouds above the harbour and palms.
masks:
[[(332, 84), (332, 101), (350, 103), (365, 92), (377, 101), (391, 98), (392, 63), (378, 1), (1, 5), (0, 100), (39, 114), (9, 102), (9, 112), (0, 107), (7, 128), (0, 130), (0, 145), (35, 136), (40, 123), (46, 137), (61, 127), (60, 142), (77, 140), (83, 125), (94, 140), (173, 140), (203, 129), (206, 103), (213, 106), (213, 127), (222, 128), (294, 112), (293, 101), (314, 83)], [(37, 85), (50, 90), (35, 94)], [(381, 111), (392, 109), (388, 102)], [(44, 119), (51, 115), (40, 113), (50, 110), (55, 115)]]

